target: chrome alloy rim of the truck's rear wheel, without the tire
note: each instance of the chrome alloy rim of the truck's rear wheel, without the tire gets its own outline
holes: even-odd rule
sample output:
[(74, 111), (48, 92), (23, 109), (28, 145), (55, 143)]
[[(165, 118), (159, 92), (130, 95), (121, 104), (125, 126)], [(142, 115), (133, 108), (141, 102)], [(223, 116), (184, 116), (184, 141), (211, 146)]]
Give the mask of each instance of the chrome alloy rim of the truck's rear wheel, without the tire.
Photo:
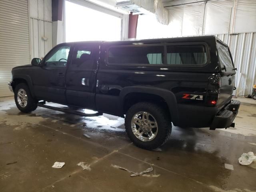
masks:
[(158, 132), (156, 119), (145, 111), (140, 111), (132, 117), (131, 126), (133, 134), (142, 141), (153, 140)]

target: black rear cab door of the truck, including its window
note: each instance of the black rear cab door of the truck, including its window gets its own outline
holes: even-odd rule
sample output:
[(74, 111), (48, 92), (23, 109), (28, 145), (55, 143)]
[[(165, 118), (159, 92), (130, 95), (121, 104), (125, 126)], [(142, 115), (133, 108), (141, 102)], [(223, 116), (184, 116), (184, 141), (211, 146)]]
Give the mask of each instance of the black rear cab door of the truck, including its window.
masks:
[(95, 79), (99, 43), (77, 43), (66, 74), (66, 98), (69, 105), (94, 109)]

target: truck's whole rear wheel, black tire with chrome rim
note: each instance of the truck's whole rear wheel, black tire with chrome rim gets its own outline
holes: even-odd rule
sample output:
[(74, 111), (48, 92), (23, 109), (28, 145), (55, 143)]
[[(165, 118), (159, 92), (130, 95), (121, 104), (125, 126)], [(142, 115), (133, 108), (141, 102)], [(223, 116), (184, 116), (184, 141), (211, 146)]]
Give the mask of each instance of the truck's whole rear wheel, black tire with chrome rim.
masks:
[(172, 124), (166, 110), (156, 104), (140, 102), (128, 110), (125, 128), (136, 146), (152, 150), (168, 140)]

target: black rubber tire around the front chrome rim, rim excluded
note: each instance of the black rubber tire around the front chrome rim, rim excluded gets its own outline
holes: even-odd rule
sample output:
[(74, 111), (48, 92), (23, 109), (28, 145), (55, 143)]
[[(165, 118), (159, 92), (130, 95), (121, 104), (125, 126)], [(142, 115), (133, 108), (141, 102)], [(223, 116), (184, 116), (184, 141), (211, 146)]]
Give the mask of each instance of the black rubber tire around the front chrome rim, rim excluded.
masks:
[[(25, 90), (26, 92), (26, 95), (27, 95), (27, 104), (26, 106), (22, 107), (20, 106), (20, 104), (18, 103), (18, 91), (20, 89), (23, 89)], [(27, 84), (25, 83), (19, 83), (16, 87), (15, 87), (15, 90), (14, 90), (14, 100), (15, 100), (15, 103), (16, 103), (16, 106), (17, 108), (21, 111), (21, 112), (24, 112), (24, 113), (29, 113), (29, 112), (32, 112), (34, 110), (36, 110), (37, 108), (37, 104), (36, 104), (36, 101), (35, 99), (32, 97), (31, 95), (31, 92), (27, 86)]]

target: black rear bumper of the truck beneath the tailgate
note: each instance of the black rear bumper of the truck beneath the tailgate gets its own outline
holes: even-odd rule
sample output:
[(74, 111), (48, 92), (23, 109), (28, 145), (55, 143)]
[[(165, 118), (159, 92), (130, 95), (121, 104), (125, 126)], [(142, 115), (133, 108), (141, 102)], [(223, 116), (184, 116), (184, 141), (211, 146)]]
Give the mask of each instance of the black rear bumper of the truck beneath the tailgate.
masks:
[(233, 121), (238, 114), (239, 106), (240, 101), (231, 100), (230, 104), (222, 108), (214, 117), (212, 124), (210, 125), (210, 130), (234, 126)]

